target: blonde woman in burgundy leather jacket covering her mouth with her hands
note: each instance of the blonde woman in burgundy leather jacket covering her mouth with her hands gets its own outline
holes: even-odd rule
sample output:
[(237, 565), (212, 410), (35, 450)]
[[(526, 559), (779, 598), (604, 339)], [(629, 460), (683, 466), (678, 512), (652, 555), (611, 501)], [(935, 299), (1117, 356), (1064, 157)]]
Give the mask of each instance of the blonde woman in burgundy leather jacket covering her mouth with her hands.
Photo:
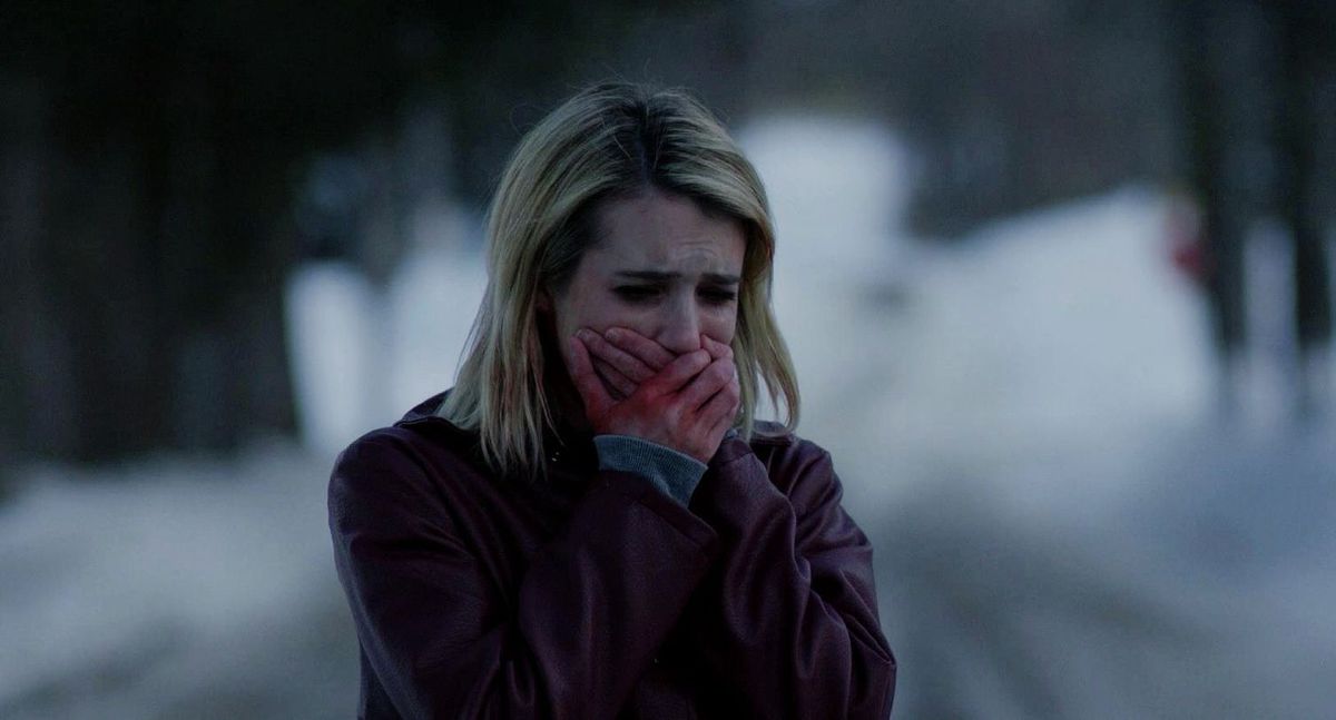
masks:
[(520, 143), (488, 243), (456, 386), (330, 480), (359, 715), (886, 717), (872, 550), (792, 434), (770, 212), (724, 128), (580, 92)]

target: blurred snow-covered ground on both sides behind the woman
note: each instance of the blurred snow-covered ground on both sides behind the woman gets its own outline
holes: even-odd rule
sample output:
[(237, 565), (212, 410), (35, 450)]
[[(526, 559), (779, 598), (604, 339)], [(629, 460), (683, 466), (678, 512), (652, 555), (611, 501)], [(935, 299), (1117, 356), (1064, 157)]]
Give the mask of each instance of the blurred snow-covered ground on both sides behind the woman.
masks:
[[(883, 128), (739, 138), (776, 212), (800, 433), (876, 546), (896, 717), (1333, 707), (1336, 426), (1213, 418), (1156, 192), (922, 243)], [(469, 231), (442, 212), (426, 224)], [(353, 715), (326, 473), (449, 385), (482, 291), (464, 244), (415, 242), (383, 290), (339, 266), (294, 279), (306, 449), (27, 469), (0, 506), (0, 717)]]

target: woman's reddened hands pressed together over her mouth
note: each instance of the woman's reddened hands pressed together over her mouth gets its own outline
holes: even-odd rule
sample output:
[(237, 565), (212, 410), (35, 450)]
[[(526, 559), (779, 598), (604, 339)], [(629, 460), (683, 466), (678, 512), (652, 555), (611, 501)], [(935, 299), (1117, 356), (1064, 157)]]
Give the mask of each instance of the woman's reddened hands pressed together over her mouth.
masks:
[(609, 335), (616, 345), (591, 330), (568, 343), (572, 381), (595, 431), (639, 437), (709, 462), (741, 402), (732, 349), (703, 335), (705, 350), (673, 357), (631, 330)]

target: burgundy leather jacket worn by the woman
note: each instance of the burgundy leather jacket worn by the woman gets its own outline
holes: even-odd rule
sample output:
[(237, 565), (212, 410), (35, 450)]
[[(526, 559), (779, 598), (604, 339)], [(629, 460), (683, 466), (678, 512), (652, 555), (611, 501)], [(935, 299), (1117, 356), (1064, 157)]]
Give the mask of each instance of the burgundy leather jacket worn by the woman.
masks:
[(727, 438), (688, 509), (592, 438), (545, 484), (498, 478), (441, 398), (330, 478), (359, 717), (890, 715), (872, 548), (824, 450)]

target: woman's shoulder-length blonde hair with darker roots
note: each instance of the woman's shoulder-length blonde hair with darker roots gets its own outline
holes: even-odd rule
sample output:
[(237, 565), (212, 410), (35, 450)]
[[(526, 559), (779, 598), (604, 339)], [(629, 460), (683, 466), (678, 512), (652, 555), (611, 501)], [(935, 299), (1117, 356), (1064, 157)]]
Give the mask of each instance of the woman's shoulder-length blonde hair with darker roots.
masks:
[(565, 289), (595, 239), (600, 203), (648, 190), (691, 198), (703, 211), (741, 223), (735, 427), (748, 439), (756, 430), (762, 381), (771, 405), (784, 409), (784, 429), (798, 425), (798, 381), (771, 311), (775, 235), (756, 170), (685, 92), (604, 83), (576, 94), (524, 136), (492, 200), (488, 289), (438, 414), (480, 431), (493, 470), (540, 476), (545, 431), (556, 429), (544, 387), (544, 361), (553, 355), (542, 346), (540, 289)]

